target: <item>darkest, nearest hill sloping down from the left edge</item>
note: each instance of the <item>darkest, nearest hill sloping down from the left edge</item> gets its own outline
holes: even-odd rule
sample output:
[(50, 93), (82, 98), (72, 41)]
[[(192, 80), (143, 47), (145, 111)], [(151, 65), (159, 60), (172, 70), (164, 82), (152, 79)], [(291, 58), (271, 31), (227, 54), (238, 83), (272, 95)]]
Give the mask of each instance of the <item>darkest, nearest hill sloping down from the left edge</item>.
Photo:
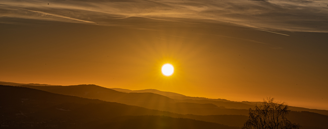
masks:
[(0, 108), (2, 128), (239, 128), (172, 118), (169, 116), (180, 114), (166, 111), (3, 85)]

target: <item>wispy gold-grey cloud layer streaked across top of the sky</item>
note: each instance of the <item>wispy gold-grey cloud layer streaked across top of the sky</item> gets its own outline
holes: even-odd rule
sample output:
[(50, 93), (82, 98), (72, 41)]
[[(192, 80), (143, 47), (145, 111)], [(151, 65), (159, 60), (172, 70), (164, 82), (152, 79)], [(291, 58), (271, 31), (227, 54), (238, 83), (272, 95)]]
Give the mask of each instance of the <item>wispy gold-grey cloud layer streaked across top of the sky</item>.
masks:
[[(230, 22), (274, 33), (328, 32), (326, 0), (2, 0), (0, 5), (0, 17), (78, 21), (99, 25), (138, 25), (142, 23), (141, 19), (139, 22), (130, 21), (133, 17), (139, 17), (175, 22)], [(24, 9), (44, 15), (26, 13)]]

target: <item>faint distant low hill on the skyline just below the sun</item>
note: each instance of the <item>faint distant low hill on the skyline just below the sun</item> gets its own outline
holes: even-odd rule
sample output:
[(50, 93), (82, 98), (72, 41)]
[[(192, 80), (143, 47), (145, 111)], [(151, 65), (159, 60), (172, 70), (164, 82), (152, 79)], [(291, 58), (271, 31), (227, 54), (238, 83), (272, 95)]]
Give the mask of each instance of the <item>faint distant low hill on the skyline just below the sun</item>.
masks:
[(119, 91), (119, 92), (126, 92), (126, 93), (131, 93), (131, 92), (135, 92), (135, 93), (146, 93), (146, 92), (150, 92), (150, 93), (157, 93), (160, 95), (164, 95), (164, 96), (186, 96), (183, 94), (179, 94), (179, 93), (173, 93), (173, 92), (163, 92), (163, 91), (159, 91), (159, 90), (155, 90), (155, 89), (145, 89), (145, 90), (128, 90), (128, 89), (121, 89), (121, 88), (110, 88), (113, 89), (115, 91)]

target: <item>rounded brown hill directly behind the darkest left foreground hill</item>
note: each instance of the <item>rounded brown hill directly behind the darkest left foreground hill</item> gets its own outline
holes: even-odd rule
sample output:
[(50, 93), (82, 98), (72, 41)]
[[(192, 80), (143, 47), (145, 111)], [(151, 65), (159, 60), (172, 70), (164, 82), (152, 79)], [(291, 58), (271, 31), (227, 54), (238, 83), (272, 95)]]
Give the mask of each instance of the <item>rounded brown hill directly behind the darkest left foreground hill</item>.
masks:
[(112, 102), (132, 103), (136, 105), (138, 104), (142, 105), (146, 102), (156, 102), (156, 101), (161, 101), (162, 103), (166, 103), (166, 102), (174, 103), (173, 99), (155, 93), (123, 93), (97, 85), (72, 85), (72, 86), (51, 86), (51, 87), (20, 86), (20, 87), (29, 87), (33, 89), (48, 91), (51, 93), (74, 95), (74, 96), (92, 98), (92, 99), (102, 99), (105, 101), (112, 101)]

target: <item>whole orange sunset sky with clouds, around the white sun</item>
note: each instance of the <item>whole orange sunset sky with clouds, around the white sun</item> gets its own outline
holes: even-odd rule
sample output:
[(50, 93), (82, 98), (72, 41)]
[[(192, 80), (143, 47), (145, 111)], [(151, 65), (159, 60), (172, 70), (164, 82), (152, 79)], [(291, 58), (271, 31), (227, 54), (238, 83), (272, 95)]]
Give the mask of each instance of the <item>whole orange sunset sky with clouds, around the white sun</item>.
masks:
[(0, 81), (328, 109), (327, 14), (325, 0), (1, 0)]

